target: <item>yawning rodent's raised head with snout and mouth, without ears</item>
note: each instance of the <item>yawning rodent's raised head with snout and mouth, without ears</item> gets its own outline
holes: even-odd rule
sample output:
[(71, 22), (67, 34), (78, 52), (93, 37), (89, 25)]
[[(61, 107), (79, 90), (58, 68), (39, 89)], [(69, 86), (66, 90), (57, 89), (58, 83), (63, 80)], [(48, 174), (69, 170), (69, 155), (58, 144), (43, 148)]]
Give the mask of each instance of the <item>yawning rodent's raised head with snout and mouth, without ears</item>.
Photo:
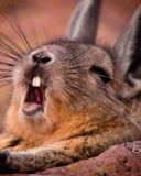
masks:
[(36, 48), (17, 63), (14, 100), (20, 101), (21, 113), (32, 120), (53, 117), (62, 109), (74, 114), (90, 105), (89, 110), (94, 110), (96, 99), (104, 99), (100, 95), (111, 76), (112, 62), (104, 50), (57, 42)]

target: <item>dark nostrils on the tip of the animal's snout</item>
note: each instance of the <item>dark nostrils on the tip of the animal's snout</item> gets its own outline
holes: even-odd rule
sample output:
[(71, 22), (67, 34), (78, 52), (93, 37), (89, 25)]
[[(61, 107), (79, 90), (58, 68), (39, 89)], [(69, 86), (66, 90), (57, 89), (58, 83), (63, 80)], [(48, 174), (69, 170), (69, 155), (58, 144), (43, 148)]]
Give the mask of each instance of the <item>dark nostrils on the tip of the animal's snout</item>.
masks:
[(48, 64), (51, 62), (51, 57), (46, 56), (46, 57), (41, 57), (37, 55), (33, 55), (30, 58), (30, 63), (32, 65), (41, 65), (41, 66), (46, 66), (46, 64)]

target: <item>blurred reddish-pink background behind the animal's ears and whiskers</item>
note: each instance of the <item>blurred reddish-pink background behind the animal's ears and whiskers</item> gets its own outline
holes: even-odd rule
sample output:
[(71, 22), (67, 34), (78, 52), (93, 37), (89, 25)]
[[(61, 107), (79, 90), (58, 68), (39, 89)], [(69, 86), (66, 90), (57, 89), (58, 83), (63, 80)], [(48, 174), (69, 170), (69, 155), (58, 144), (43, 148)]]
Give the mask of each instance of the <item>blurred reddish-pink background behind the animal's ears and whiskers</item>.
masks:
[[(13, 30), (17, 24), (20, 24), (32, 48), (47, 41), (65, 38), (70, 14), (79, 1), (0, 0), (0, 41), (13, 47), (3, 36), (4, 34), (26, 51), (25, 45)], [(126, 26), (140, 2), (141, 0), (102, 0), (97, 41), (104, 46), (110, 45)], [(0, 56), (0, 61), (7, 61), (7, 58)], [(3, 66), (0, 66), (0, 69), (3, 69)], [(10, 68), (7, 67), (7, 69)], [(0, 131), (2, 131), (12, 90), (12, 86), (0, 88)]]

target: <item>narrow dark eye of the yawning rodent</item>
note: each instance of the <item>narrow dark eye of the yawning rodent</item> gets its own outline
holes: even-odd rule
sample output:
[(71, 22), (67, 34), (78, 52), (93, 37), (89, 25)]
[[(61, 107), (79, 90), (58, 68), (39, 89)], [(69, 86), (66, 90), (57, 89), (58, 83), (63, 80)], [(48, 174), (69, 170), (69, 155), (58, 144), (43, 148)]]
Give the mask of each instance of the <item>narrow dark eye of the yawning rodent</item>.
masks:
[(110, 81), (109, 75), (107, 75), (107, 73), (104, 69), (101, 69), (100, 67), (93, 66), (90, 68), (90, 72), (95, 72), (102, 79), (102, 81), (105, 81), (105, 82)]

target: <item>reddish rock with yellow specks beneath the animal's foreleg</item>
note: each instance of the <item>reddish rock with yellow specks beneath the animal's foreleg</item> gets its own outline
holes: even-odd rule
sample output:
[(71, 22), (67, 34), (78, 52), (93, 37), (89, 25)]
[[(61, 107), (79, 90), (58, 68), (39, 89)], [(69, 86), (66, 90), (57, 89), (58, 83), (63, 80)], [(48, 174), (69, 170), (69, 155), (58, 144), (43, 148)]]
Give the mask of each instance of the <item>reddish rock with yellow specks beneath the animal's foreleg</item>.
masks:
[[(97, 157), (35, 174), (9, 176), (141, 176), (141, 141), (113, 145)], [(7, 176), (1, 174), (1, 176)]]

